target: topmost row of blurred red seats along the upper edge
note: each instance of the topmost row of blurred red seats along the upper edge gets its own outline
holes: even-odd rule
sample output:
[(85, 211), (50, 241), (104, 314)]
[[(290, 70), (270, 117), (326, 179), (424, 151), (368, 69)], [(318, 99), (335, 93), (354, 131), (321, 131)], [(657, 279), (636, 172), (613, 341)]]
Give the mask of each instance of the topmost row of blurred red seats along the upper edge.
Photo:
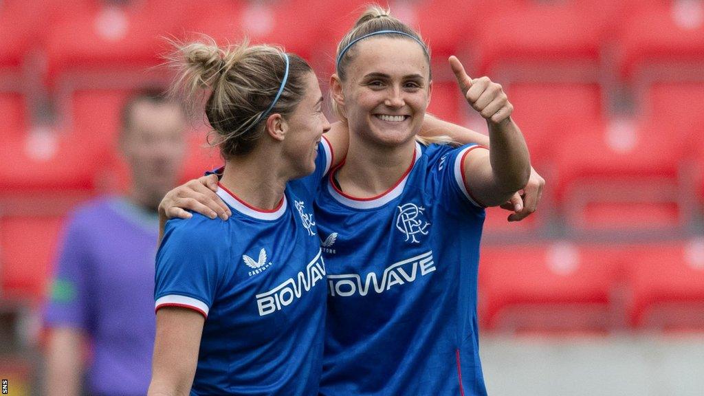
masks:
[[(97, 0), (0, 4), (0, 65), (18, 65), (32, 49), (46, 51), (49, 82), (91, 69), (144, 68), (160, 60), (163, 36), (203, 32), (220, 41), (244, 35), (284, 44), (330, 70), (336, 40), (351, 27), (365, 1), (151, 0), (124, 6)], [(474, 54), (477, 73), (540, 65), (590, 75), (615, 63), (629, 78), (655, 63), (699, 65), (704, 60), (704, 5), (696, 0), (389, 1), (392, 11), (417, 26), (440, 58)], [(191, 35), (192, 36), (192, 35)], [(612, 48), (615, 47), (615, 48)], [(553, 68), (544, 65), (553, 63)], [(664, 70), (664, 71), (663, 71)], [(693, 70), (693, 69), (685, 69)], [(536, 70), (533, 70), (535, 72)], [(586, 73), (586, 74), (584, 74)], [(68, 77), (67, 77), (68, 75)]]

